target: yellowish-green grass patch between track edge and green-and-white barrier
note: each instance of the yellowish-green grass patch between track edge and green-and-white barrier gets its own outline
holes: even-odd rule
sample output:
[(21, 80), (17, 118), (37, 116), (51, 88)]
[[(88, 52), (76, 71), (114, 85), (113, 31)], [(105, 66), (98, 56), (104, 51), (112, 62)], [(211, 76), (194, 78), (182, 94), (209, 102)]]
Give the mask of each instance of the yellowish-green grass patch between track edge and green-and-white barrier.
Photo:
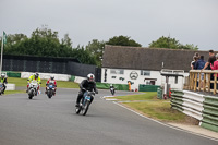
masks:
[[(123, 102), (125, 106), (144, 113), (146, 117), (164, 121), (164, 122), (184, 122), (185, 114), (171, 109), (169, 100), (157, 99), (157, 93), (147, 92), (140, 95), (114, 97), (119, 100), (130, 100), (132, 102)], [(142, 101), (134, 101), (142, 100)]]

